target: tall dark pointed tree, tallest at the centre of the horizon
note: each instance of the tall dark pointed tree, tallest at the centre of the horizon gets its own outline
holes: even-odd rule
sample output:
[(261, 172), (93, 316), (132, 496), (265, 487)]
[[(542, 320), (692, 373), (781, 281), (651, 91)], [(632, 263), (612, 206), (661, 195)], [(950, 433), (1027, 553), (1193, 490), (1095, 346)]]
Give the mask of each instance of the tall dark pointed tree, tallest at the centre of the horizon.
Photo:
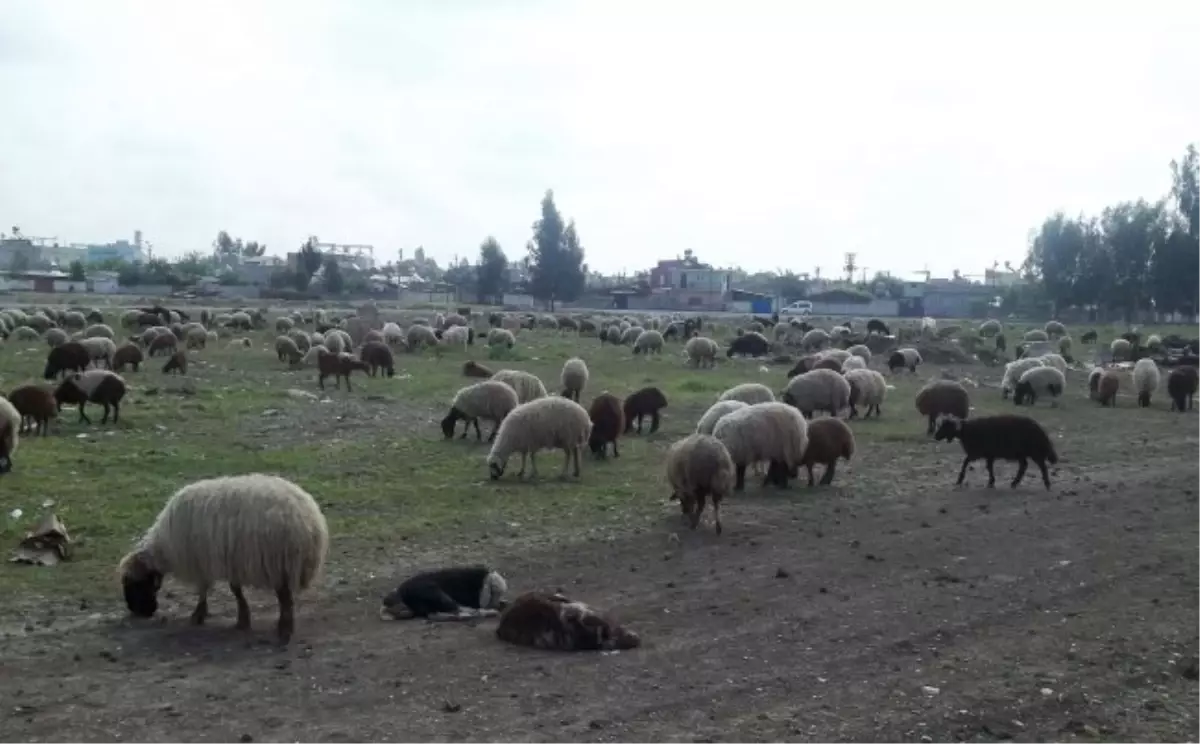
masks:
[(533, 224), (529, 241), (529, 293), (550, 305), (571, 301), (580, 296), (587, 281), (583, 246), (580, 245), (575, 222), (563, 226), (563, 216), (554, 206), (554, 192), (547, 191), (541, 200), (541, 220)]

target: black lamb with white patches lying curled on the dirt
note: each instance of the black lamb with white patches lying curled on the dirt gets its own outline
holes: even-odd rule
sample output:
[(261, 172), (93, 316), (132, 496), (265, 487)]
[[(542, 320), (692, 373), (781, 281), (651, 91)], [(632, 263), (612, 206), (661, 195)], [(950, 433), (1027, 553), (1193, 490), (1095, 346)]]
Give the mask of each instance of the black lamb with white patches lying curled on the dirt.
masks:
[(486, 565), (424, 571), (383, 598), (379, 616), (396, 620), (467, 620), (496, 617), (509, 584)]

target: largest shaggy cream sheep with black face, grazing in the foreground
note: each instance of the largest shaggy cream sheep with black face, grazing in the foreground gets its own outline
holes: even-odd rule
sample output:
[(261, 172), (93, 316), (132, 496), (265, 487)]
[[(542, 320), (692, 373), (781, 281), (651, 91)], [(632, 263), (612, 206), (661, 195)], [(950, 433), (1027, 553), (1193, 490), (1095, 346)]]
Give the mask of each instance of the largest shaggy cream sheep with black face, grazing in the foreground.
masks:
[(192, 623), (209, 613), (212, 584), (228, 581), (238, 601), (238, 629), (250, 629), (246, 587), (275, 592), (281, 642), (295, 628), (293, 602), (320, 574), (329, 528), (317, 502), (300, 486), (252, 473), (200, 480), (170, 497), (120, 564), (125, 602), (134, 616), (158, 610), (163, 576), (197, 588)]

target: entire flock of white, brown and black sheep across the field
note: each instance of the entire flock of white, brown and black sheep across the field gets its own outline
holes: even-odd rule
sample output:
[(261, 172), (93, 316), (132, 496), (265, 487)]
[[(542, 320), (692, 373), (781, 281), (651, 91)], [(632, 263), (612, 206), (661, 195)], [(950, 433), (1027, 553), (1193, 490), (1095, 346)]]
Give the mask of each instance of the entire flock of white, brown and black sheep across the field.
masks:
[[(372, 376), (383, 371), (392, 376), (394, 350), (467, 348), (476, 340), (476, 329), (458, 313), (439, 314), (431, 322), (416, 320), (407, 330), (394, 323), (378, 323), (377, 318), (355, 324), (359, 320), (362, 319), (335, 318), (320, 311), (280, 317), (275, 320), (276, 354), (289, 365), (314, 364), (320, 386), (328, 377), (335, 377), (338, 386), (344, 378), (349, 389), (354, 371)], [(594, 336), (600, 343), (628, 344), (635, 354), (661, 354), (670, 341), (679, 341), (688, 364), (702, 368), (713, 366), (721, 349), (715, 340), (703, 335), (703, 323), (696, 318), (654, 318), (646, 322), (646, 328), (634, 318), (594, 320), (492, 313), (487, 316), (486, 336), (482, 331), (479, 336), (488, 346), (511, 348), (522, 329), (553, 328)], [(88, 420), (86, 403), (101, 404), (102, 424), (109, 410), (116, 421), (126, 391), (120, 377), (125, 366), (137, 370), (148, 356), (161, 354), (167, 358), (164, 372), (186, 373), (187, 349), (204, 348), (222, 336), (263, 329), (266, 324), (262, 312), (203, 311), (197, 320), (191, 320), (181, 311), (155, 306), (122, 316), (121, 325), (137, 329), (137, 334), (118, 347), (113, 329), (95, 311), (0, 311), (0, 335), (43, 338), (50, 347), (44, 377), (62, 378), (54, 389), (20, 385), (0, 397), (0, 473), (12, 468), (19, 433), (44, 434), (49, 419), (64, 403), (78, 404), (83, 420)], [(314, 325), (316, 330), (304, 330), (305, 324)], [(767, 334), (774, 335), (774, 342), (767, 340)], [(860, 412), (864, 419), (872, 414), (882, 416), (882, 406), (893, 389), (883, 372), (871, 367), (872, 362), (882, 359), (884, 364), (876, 366), (886, 367), (889, 374), (914, 373), (922, 365), (916, 344), (900, 343), (906, 334), (908, 340), (947, 337), (929, 318), (898, 335), (892, 335), (877, 319), (857, 331), (848, 322), (827, 330), (796, 320), (779, 323), (775, 317), (754, 318), (738, 329), (726, 347), (726, 356), (778, 360), (784, 350), (803, 355), (798, 360), (787, 358), (794, 364), (778, 395), (760, 382), (730, 388), (698, 418), (694, 433), (670, 445), (666, 481), (685, 522), (697, 528), (710, 506), (715, 532), (720, 534), (721, 503), (745, 487), (748, 468), (758, 470), (763, 486), (787, 487), (800, 468), (806, 470), (812, 486), (814, 467), (823, 466), (821, 484), (830, 484), (838, 461), (851, 460), (856, 451), (854, 433), (847, 421), (857, 419)], [(1147, 340), (1144, 347), (1136, 335), (1130, 335), (1134, 337), (1112, 342), (1111, 355), (1118, 360), (1135, 359), (1133, 386), (1139, 406), (1148, 406), (1159, 386), (1160, 372), (1154, 359), (1142, 353), (1156, 340)], [(1007, 347), (998, 322), (982, 324), (978, 337), (990, 340), (997, 349)], [(230, 343), (252, 346), (248, 338), (234, 338)], [(1157, 343), (1163, 342), (1157, 340)], [(1063, 395), (1070, 368), (1070, 341), (1062, 324), (1051, 322), (1043, 330), (1026, 332), (1015, 352), (1018, 359), (1006, 365), (1001, 379), (1003, 398), (1012, 396), (1016, 406), (1032, 406), (1039, 398), (1056, 401)], [(492, 479), (502, 478), (517, 455), (521, 457), (517, 476), (535, 476), (536, 455), (544, 450), (560, 450), (562, 476), (570, 472), (578, 478), (584, 446), (595, 457), (606, 457), (610, 448), (619, 457), (619, 439), (635, 427), (641, 433), (647, 419), (649, 433), (656, 432), (661, 412), (667, 407), (664, 392), (647, 386), (624, 400), (601, 392), (584, 408), (582, 400), (590, 373), (582, 356), (563, 365), (557, 394), (547, 391), (540, 378), (521, 370), (493, 371), (470, 360), (463, 364), (462, 372), (479, 382), (454, 395), (440, 422), (442, 432), (452, 438), (461, 421), (462, 438), (474, 427), (476, 440), (482, 440), (480, 421), (488, 424), (491, 448), (486, 464)], [(1114, 368), (1098, 366), (1088, 374), (1090, 396), (1102, 406), (1115, 403), (1121, 385), (1122, 376)], [(1189, 409), (1198, 388), (1195, 368), (1175, 367), (1166, 388), (1172, 409)], [(1050, 437), (1032, 418), (1019, 414), (972, 418), (968, 389), (952, 379), (925, 384), (914, 404), (928, 419), (926, 432), (936, 440), (960, 442), (965, 458), (959, 484), (971, 462), (984, 460), (988, 485), (994, 486), (995, 461), (1004, 460), (1018, 463), (1012, 484), (1015, 487), (1032, 461), (1050, 488), (1048, 464), (1055, 464), (1058, 455)], [(817, 414), (826, 415), (816, 418)], [(217, 582), (227, 582), (238, 605), (238, 628), (248, 628), (250, 607), (242, 590), (265, 589), (277, 596), (277, 635), (287, 642), (294, 631), (294, 599), (320, 574), (328, 550), (325, 518), (317, 502), (298, 485), (264, 474), (202, 480), (178, 491), (121, 560), (126, 605), (134, 616), (155, 614), (163, 577), (174, 575), (197, 588), (192, 620), (200, 624), (208, 616), (209, 592)], [(536, 593), (508, 602), (506, 590), (504, 577), (488, 566), (452, 566), (409, 578), (384, 599), (382, 613), (397, 619), (499, 614), (500, 640), (539, 648), (611, 649), (640, 643), (637, 634), (583, 602)]]

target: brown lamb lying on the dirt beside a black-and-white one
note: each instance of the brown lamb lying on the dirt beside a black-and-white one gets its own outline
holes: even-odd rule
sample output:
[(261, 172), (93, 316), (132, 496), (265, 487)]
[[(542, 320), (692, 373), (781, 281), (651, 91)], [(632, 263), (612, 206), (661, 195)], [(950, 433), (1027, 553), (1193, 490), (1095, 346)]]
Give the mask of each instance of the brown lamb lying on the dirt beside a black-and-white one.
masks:
[(522, 594), (509, 605), (496, 637), (546, 650), (616, 650), (642, 643), (636, 632), (583, 602), (536, 592)]

